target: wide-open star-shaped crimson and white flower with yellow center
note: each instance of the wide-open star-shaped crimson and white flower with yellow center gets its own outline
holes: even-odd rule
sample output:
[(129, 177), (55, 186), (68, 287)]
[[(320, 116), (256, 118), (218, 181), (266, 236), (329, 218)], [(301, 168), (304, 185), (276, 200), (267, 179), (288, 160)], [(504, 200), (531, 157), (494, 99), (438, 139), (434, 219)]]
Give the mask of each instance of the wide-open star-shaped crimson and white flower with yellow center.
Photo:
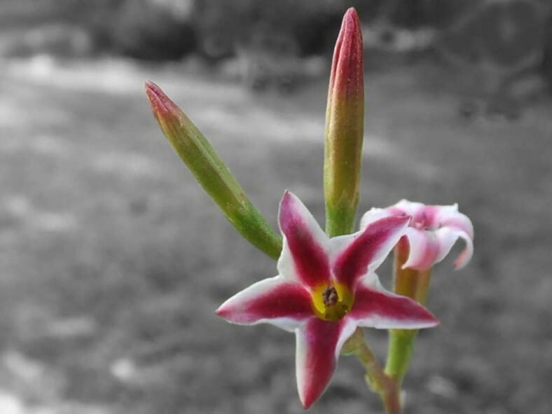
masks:
[(297, 386), (305, 408), (326, 389), (357, 326), (439, 324), (415, 301), (383, 289), (373, 272), (404, 234), (409, 217), (387, 217), (330, 239), (301, 200), (286, 192), (278, 220), (284, 237), (278, 275), (235, 294), (216, 313), (235, 324), (264, 322), (296, 334)]

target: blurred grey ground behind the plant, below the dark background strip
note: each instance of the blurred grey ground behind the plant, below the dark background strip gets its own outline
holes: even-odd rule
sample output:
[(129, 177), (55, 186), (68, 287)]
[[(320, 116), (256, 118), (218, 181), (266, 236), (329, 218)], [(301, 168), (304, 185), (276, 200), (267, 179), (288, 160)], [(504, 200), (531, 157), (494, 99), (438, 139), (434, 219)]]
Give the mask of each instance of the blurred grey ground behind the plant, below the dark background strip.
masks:
[[(324, 221), (326, 80), (255, 95), (125, 60), (11, 60), (2, 72), (0, 412), (303, 412), (294, 337), (214, 314), (275, 263), (202, 193), (142, 85), (181, 105), (275, 226), (286, 188)], [(436, 268), (428, 307), (441, 326), (420, 335), (406, 413), (548, 413), (550, 102), (467, 122), (451, 79), (423, 64), (367, 74), (360, 211), (458, 202), (476, 228), (471, 264)], [(389, 287), (389, 265), (379, 273)], [(366, 337), (383, 357), (385, 333)], [(312, 413), (380, 412), (362, 378), (342, 357)]]

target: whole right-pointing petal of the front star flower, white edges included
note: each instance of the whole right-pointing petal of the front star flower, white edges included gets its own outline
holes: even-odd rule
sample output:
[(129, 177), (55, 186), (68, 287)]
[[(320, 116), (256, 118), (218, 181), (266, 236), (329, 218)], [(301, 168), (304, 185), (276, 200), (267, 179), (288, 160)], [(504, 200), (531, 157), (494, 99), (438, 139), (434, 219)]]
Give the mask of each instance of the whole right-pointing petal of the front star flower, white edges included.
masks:
[(354, 305), (345, 319), (354, 319), (358, 326), (422, 329), (439, 325), (439, 321), (422, 305), (385, 290), (373, 272), (360, 280), (354, 296)]

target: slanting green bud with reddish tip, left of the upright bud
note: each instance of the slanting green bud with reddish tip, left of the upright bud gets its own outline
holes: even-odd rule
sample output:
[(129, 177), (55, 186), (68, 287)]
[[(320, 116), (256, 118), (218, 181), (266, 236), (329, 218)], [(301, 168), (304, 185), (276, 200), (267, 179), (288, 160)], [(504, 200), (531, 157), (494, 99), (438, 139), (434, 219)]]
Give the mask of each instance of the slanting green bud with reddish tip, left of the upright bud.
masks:
[(228, 221), (246, 240), (277, 259), (282, 238), (251, 204), (240, 184), (192, 121), (154, 83), (146, 83), (153, 115), (172, 147)]

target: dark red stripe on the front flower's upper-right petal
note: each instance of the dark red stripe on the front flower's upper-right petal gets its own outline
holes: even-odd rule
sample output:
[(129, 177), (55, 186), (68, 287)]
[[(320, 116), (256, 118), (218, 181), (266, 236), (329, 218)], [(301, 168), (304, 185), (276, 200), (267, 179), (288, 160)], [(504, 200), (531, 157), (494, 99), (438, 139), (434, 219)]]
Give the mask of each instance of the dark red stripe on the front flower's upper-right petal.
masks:
[[(357, 237), (352, 244), (337, 258), (333, 272), (339, 282), (354, 292), (354, 285), (359, 277), (366, 274), (368, 265), (380, 253), (380, 248), (397, 231), (403, 229), (410, 216), (385, 217), (374, 221)], [(398, 240), (397, 240), (398, 241)], [(392, 246), (389, 247), (389, 251)]]

